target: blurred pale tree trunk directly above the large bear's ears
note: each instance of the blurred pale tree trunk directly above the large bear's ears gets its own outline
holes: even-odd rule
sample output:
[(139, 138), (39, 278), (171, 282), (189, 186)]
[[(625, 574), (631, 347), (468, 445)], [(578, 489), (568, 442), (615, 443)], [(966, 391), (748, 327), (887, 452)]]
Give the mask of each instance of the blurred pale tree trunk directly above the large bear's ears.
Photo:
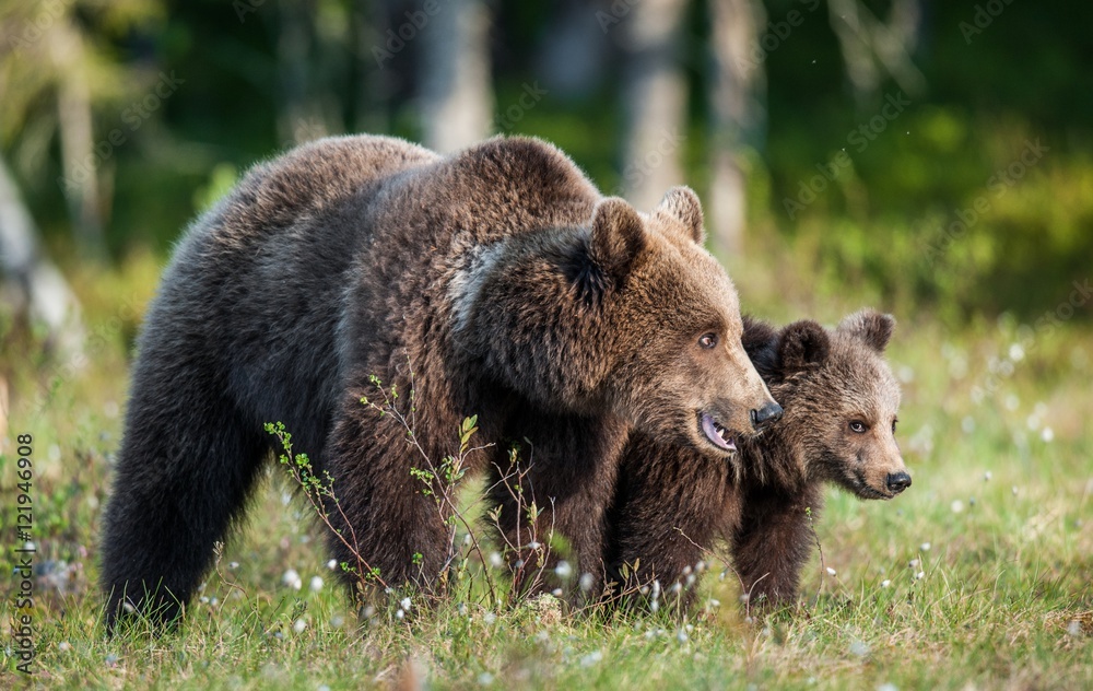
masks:
[(627, 48), (623, 195), (650, 210), (683, 181), (686, 83), (679, 67), (686, 0), (642, 0), (621, 19)]

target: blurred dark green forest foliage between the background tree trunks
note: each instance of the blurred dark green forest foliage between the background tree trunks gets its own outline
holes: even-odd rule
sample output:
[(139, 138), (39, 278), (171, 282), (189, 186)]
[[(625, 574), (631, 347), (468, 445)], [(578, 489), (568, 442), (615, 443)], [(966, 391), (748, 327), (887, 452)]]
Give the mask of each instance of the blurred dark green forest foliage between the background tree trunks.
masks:
[[(692, 8), (680, 55), (691, 86), (686, 181), (701, 194), (708, 192), (709, 178), (710, 1)], [(367, 128), (420, 137), (420, 46), (410, 42), (380, 69), (369, 47), (375, 38), (364, 37), (377, 12), (398, 22), (418, 4), (299, 5), (314, 19), (306, 96), (322, 117), (296, 122), (294, 131)], [(763, 4), (768, 21), (777, 22), (809, 3)], [(878, 16), (890, 10), (889, 2), (863, 4)], [(622, 32), (593, 32), (609, 44), (593, 89), (551, 90), (510, 122), (505, 108), (526, 84), (543, 79), (542, 49), (559, 26), (561, 5), (497, 0), (491, 7), (496, 129), (555, 142), (602, 189), (614, 190), (625, 117)], [(998, 7), (1001, 13), (988, 26), (968, 34), (978, 5), (924, 0), (912, 57), (926, 77), (925, 92), (900, 96), (885, 82), (872, 101), (856, 97), (849, 86), (826, 5), (803, 12), (802, 24), (763, 60), (765, 130), (741, 154), (749, 179), (749, 250), (726, 258), (730, 267), (747, 263), (750, 272), (759, 267), (774, 273), (777, 295), (801, 307), (851, 294), (904, 313), (935, 312), (951, 324), (1003, 312), (1035, 319), (1066, 301), (1074, 281), (1091, 278), (1093, 44), (1086, 34), (1093, 5), (1053, 0)], [(595, 24), (597, 9), (588, 5), (588, 22)], [(161, 74), (181, 81), (104, 162), (111, 256), (122, 259), (138, 249), (165, 256), (188, 220), (243, 171), (292, 144), (279, 121), (285, 112), (279, 50), (296, 11), (259, 0), (0, 0), (7, 39), (0, 54), (0, 147), (64, 266), (79, 259), (57, 183), (60, 145), (50, 84), (67, 68), (47, 59), (40, 42), (11, 50), (12, 36), (60, 13), (48, 21), (63, 21), (85, 37), (81, 69), (91, 84), (96, 142), (124, 125), (126, 108), (152, 93)], [(855, 139), (860, 127), (880, 121), (885, 98), (909, 105), (871, 138)], [(1026, 142), (1046, 150), (999, 190), (998, 172), (1004, 176), (1021, 161)], [(824, 178), (823, 191), (790, 218), (786, 200), (798, 199), (801, 186), (820, 168), (831, 169), (844, 149), (849, 164)], [(960, 232), (953, 224), (961, 214), (968, 218), (977, 200), (989, 208)], [(1089, 314), (1079, 309), (1081, 318)]]

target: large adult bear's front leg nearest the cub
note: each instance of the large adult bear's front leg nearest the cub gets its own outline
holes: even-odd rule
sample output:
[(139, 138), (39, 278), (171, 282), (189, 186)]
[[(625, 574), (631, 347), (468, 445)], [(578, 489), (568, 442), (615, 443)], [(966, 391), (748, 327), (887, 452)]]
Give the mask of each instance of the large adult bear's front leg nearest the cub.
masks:
[[(522, 593), (562, 587), (577, 600), (598, 598), (607, 510), (628, 429), (610, 417), (521, 412), (505, 434), (519, 442), (490, 478), (514, 586)], [(568, 573), (555, 572), (562, 560)]]

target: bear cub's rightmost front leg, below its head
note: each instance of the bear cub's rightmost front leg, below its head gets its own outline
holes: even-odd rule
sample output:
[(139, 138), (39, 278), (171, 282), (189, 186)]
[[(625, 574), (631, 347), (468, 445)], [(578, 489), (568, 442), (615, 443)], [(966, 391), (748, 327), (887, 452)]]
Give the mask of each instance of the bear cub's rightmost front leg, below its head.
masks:
[(809, 522), (822, 505), (819, 484), (796, 493), (765, 487), (745, 491), (730, 547), (743, 594), (753, 606), (787, 605), (797, 598), (814, 539)]

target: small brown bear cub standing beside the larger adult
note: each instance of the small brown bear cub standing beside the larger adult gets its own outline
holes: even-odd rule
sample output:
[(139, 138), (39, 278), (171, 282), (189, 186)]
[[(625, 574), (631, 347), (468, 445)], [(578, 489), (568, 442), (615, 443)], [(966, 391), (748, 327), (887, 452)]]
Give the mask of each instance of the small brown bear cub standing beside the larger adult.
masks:
[(656, 579), (687, 606), (696, 565), (724, 537), (752, 602), (795, 599), (813, 544), (806, 510), (815, 519), (824, 482), (861, 499), (910, 484), (894, 436), (900, 388), (882, 359), (893, 326), (869, 311), (834, 331), (808, 320), (777, 331), (745, 317), (744, 348), (785, 414), (745, 441), (734, 464), (631, 437), (607, 555), (623, 590)]

